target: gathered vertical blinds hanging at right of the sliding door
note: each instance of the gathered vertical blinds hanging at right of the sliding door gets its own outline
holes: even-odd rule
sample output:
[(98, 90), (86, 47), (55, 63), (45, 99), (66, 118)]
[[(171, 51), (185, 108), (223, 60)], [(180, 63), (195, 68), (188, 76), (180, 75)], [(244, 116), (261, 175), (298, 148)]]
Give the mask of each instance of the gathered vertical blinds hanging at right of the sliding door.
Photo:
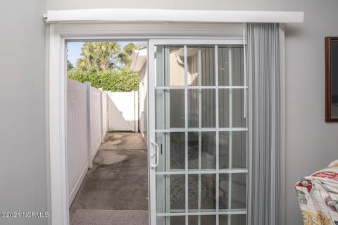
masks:
[(249, 23), (248, 63), (251, 79), (250, 225), (278, 224), (280, 177), (279, 25)]

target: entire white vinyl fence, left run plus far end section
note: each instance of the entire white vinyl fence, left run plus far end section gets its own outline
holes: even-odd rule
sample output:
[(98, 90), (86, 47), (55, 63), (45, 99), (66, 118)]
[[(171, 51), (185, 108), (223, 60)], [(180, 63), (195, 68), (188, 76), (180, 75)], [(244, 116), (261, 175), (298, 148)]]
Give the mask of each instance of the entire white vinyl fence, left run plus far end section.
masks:
[(138, 131), (138, 92), (111, 93), (67, 79), (69, 205), (108, 130)]

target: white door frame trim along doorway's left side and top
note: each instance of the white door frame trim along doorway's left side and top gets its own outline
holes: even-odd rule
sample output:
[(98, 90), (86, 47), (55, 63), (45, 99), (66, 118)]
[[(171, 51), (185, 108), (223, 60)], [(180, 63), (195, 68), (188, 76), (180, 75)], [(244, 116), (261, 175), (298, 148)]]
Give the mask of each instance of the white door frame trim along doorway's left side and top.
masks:
[[(49, 25), (49, 166), (51, 224), (68, 225), (65, 41), (76, 39), (224, 39), (242, 36), (242, 23), (65, 23)], [(150, 80), (150, 79), (149, 79)], [(47, 107), (48, 107), (47, 106)], [(148, 115), (149, 116), (149, 115)], [(149, 121), (149, 120), (148, 120)], [(149, 131), (149, 129), (147, 129)], [(149, 135), (148, 135), (149, 136)], [(149, 142), (148, 142), (149, 143)], [(150, 143), (149, 143), (150, 146)], [(150, 189), (149, 189), (150, 190)], [(153, 193), (149, 193), (149, 202)], [(149, 207), (150, 208), (150, 207)], [(156, 216), (156, 215), (155, 215)], [(154, 218), (153, 214), (151, 217)], [(153, 220), (154, 221), (154, 220)]]

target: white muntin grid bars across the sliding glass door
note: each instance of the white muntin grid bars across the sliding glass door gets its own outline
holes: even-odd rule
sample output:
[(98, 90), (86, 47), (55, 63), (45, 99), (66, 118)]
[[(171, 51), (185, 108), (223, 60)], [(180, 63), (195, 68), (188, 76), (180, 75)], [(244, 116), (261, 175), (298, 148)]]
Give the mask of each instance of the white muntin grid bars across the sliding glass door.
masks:
[[(162, 45), (163, 46), (163, 45)], [(168, 45), (170, 46), (170, 45)], [(231, 224), (231, 215), (232, 214), (247, 214), (246, 209), (232, 209), (232, 174), (248, 174), (248, 169), (234, 169), (232, 168), (232, 133), (234, 131), (246, 131), (248, 132), (247, 128), (247, 122), (246, 127), (233, 127), (232, 124), (232, 90), (233, 89), (243, 89), (244, 90), (244, 117), (246, 118), (246, 93), (248, 86), (246, 84), (246, 71), (244, 68), (244, 86), (233, 86), (232, 85), (232, 66), (229, 66), (229, 85), (228, 86), (219, 86), (218, 84), (218, 45), (207, 45), (208, 47), (214, 48), (214, 57), (215, 57), (215, 85), (214, 86), (202, 86), (201, 81), (201, 47), (199, 46), (192, 46), (194, 48), (198, 48), (198, 85), (197, 86), (189, 86), (187, 82), (187, 47), (190, 47), (188, 45), (177, 45), (184, 48), (184, 86), (170, 86), (169, 82), (164, 82), (165, 85), (163, 86), (155, 86), (155, 90), (163, 90), (163, 94), (165, 96), (165, 108), (166, 113), (163, 115), (165, 117), (165, 129), (155, 129), (156, 134), (163, 134), (163, 137), (165, 136), (165, 169), (164, 171), (157, 171), (156, 169), (156, 176), (163, 176), (165, 179), (165, 203), (163, 203), (163, 207), (165, 208), (165, 211), (163, 212), (157, 212), (157, 217), (164, 217), (163, 220), (166, 225), (170, 224), (170, 217), (185, 217), (185, 225), (189, 224), (189, 216), (197, 216), (198, 218), (198, 225), (201, 224), (201, 216), (204, 215), (214, 215), (216, 225), (220, 224), (219, 221), (219, 215), (226, 214), (228, 225)], [(206, 46), (206, 45), (203, 45)], [(222, 46), (225, 47), (231, 47), (229, 44), (225, 44)], [(238, 45), (237, 45), (238, 46)], [(168, 56), (168, 48), (165, 48), (165, 51)], [(232, 65), (232, 49), (230, 48), (228, 51), (228, 60), (229, 65)], [(244, 46), (244, 63), (245, 63), (245, 46)], [(168, 76), (168, 62), (165, 61), (165, 76)], [(168, 77), (166, 77), (168, 79)], [(188, 125), (188, 90), (189, 89), (196, 89), (198, 90), (199, 94), (199, 122), (198, 127), (189, 127)], [(202, 127), (202, 90), (204, 89), (214, 89), (215, 90), (215, 127), (206, 128)], [(229, 126), (228, 127), (220, 127), (219, 126), (219, 89), (228, 89), (229, 90)], [(170, 128), (170, 115), (169, 115), (169, 107), (170, 107), (170, 90), (182, 90), (184, 91), (184, 128)], [(201, 164), (201, 139), (202, 139), (202, 133), (213, 131), (215, 132), (215, 169), (202, 169)], [(222, 131), (228, 131), (229, 132), (229, 169), (220, 169), (220, 149), (219, 149), (219, 138), (220, 138), (220, 132)], [(198, 169), (189, 169), (188, 168), (188, 134), (189, 132), (196, 132), (199, 135), (199, 161), (198, 161)], [(170, 133), (184, 133), (184, 169), (170, 169), (168, 161), (170, 160)], [(247, 135), (246, 135), (247, 136)], [(169, 141), (168, 141), (169, 140)], [(247, 142), (247, 141), (246, 141)], [(247, 153), (248, 145), (246, 144), (246, 153)], [(246, 159), (247, 161), (248, 159)], [(247, 163), (246, 163), (247, 166)], [(198, 186), (198, 207), (196, 210), (189, 209), (189, 186), (188, 186), (188, 177), (190, 174), (197, 174), (199, 176), (199, 186)], [(201, 209), (201, 176), (203, 174), (215, 174), (215, 209), (205, 210)], [(227, 209), (220, 209), (219, 205), (219, 183), (220, 183), (220, 174), (228, 174), (228, 205)], [(184, 193), (185, 193), (185, 208), (184, 210), (171, 210), (170, 209), (170, 175), (184, 175)], [(246, 190), (247, 190), (247, 176), (246, 176)], [(246, 191), (247, 195), (247, 191)], [(174, 225), (174, 224), (170, 224)]]

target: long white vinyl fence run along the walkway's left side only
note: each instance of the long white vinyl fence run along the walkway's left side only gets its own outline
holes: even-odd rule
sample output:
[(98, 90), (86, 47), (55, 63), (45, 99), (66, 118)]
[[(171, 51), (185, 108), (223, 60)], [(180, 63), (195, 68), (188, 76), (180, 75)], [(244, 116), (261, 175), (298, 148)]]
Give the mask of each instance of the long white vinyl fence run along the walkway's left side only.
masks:
[(87, 169), (108, 131), (108, 101), (105, 91), (90, 83), (67, 80), (68, 200), (73, 203)]

